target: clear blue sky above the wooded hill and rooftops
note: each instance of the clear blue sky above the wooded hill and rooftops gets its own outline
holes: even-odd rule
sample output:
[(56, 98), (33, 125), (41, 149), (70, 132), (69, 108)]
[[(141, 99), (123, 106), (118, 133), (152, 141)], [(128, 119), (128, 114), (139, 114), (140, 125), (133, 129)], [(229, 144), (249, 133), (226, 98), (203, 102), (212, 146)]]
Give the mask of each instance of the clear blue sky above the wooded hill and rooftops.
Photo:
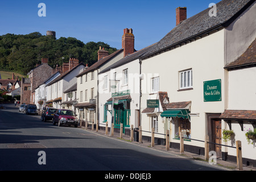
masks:
[[(187, 17), (221, 0), (9, 0), (0, 2), (0, 35), (56, 31), (56, 38), (73, 37), (84, 43), (104, 42), (121, 48), (124, 28), (133, 28), (135, 49), (150, 46), (175, 27), (176, 7), (187, 7)], [(39, 3), (46, 17), (39, 17)]]

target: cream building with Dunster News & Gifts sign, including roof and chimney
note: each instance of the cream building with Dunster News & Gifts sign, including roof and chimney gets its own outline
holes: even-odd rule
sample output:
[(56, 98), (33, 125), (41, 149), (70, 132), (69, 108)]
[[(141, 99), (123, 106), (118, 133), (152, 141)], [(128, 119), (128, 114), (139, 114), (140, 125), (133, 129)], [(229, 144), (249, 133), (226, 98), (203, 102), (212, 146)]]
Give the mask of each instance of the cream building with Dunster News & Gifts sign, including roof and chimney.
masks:
[[(197, 140), (205, 140), (206, 135), (212, 143), (225, 144), (221, 137), (228, 123), (220, 116), (230, 103), (231, 72), (224, 67), (245, 52), (256, 36), (255, 1), (223, 0), (216, 7), (217, 16), (211, 16), (209, 8), (188, 19), (187, 9), (177, 8), (176, 27), (142, 56), (141, 64), (142, 130), (154, 128), (160, 143), (170, 130), (173, 148), (179, 148), (181, 133), (188, 138), (185, 150), (203, 155), (204, 142)], [(142, 135), (150, 139), (151, 134)], [(236, 149), (210, 144), (210, 150), (226, 160), (233, 158)], [(256, 152), (247, 152), (250, 155), (244, 157), (254, 160)]]

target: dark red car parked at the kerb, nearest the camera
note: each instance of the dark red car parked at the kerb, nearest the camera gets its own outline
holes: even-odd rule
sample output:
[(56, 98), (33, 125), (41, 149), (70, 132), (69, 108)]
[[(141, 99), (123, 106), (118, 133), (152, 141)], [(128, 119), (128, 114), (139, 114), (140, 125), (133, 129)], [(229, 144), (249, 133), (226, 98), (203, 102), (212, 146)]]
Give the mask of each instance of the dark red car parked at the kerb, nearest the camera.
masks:
[(53, 125), (58, 123), (61, 125), (73, 125), (77, 127), (79, 120), (77, 119), (75, 113), (72, 110), (58, 109), (53, 118)]

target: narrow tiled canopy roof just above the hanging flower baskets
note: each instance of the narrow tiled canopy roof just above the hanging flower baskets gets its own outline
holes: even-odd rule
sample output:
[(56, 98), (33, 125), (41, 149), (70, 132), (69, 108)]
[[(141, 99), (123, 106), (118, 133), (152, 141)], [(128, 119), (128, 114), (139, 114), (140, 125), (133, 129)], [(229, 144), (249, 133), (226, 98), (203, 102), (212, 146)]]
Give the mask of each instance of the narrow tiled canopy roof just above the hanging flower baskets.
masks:
[(221, 119), (256, 120), (256, 110), (225, 110)]

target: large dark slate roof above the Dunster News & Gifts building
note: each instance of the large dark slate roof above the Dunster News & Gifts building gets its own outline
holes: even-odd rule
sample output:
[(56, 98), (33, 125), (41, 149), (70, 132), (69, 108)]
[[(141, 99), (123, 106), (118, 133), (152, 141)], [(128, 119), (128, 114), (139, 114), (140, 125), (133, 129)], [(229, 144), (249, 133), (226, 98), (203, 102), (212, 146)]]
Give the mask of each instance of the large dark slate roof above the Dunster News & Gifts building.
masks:
[(145, 53), (143, 58), (172, 46), (185, 43), (197, 36), (208, 34), (208, 32), (214, 29), (229, 26), (253, 2), (255, 0), (222, 0), (218, 2), (216, 4), (217, 16), (209, 16), (211, 8), (208, 8), (191, 18), (183, 20), (183, 22), (174, 27), (162, 40)]

